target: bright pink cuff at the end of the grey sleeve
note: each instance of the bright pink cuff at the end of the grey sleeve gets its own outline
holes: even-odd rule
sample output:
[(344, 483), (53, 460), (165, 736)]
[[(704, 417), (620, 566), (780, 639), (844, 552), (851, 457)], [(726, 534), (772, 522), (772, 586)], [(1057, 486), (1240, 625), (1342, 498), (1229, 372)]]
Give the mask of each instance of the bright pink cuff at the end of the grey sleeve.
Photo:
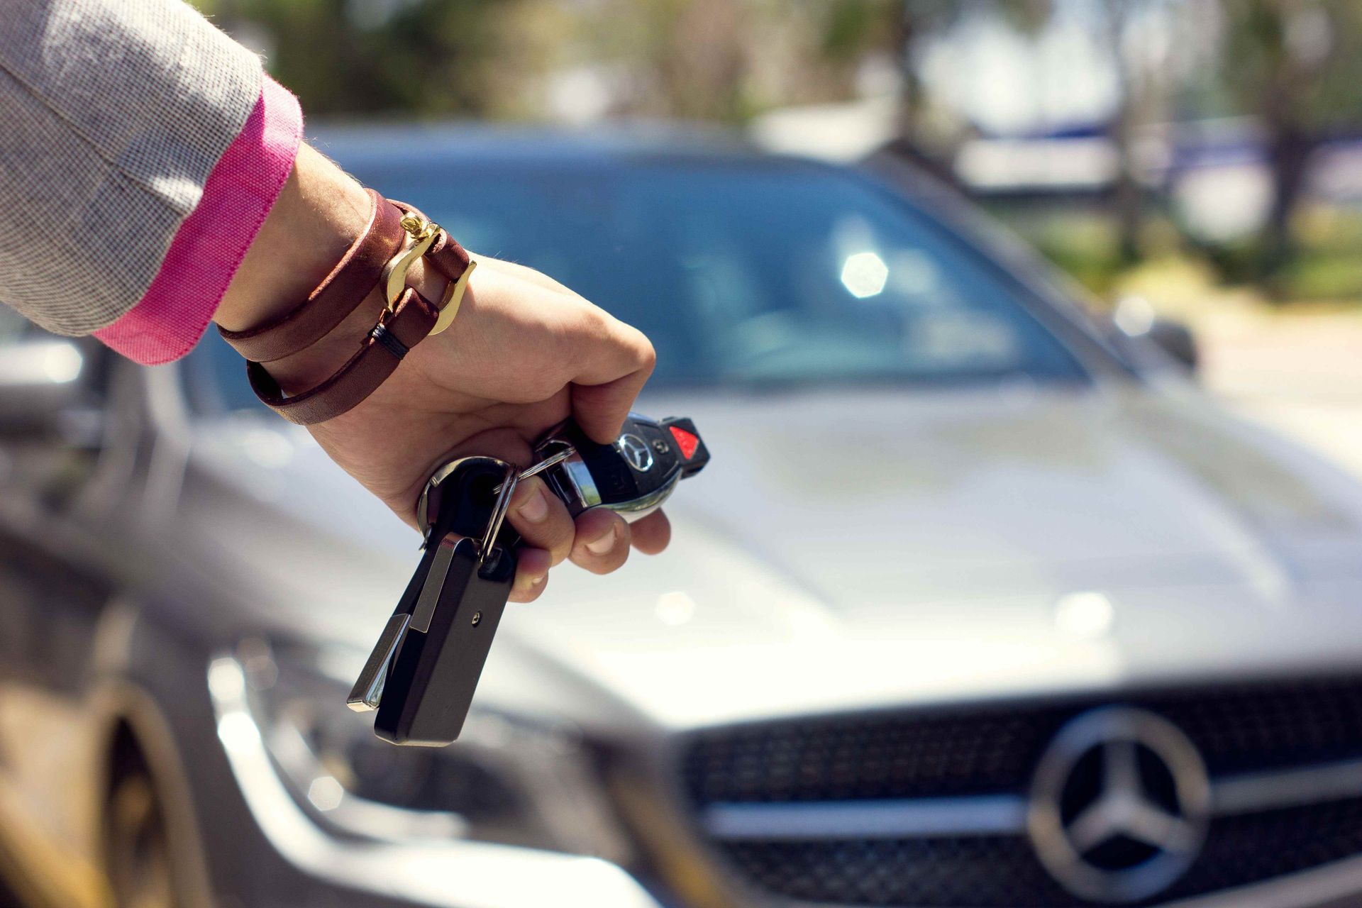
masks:
[(208, 174), (146, 295), (94, 336), (146, 366), (189, 353), (279, 197), (301, 140), (298, 99), (266, 76), (255, 110)]

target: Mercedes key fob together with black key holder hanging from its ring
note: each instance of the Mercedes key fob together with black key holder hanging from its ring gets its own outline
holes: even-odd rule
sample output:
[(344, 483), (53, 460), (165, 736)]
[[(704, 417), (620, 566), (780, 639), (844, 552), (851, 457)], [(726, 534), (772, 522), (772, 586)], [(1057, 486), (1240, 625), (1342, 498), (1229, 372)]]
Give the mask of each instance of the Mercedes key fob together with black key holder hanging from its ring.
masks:
[(636, 520), (710, 460), (689, 419), (639, 414), (613, 445), (567, 422), (535, 456), (524, 471), (493, 457), (452, 460), (421, 493), (421, 564), (347, 698), (355, 711), (377, 709), (384, 741), (443, 746), (459, 736), (515, 581), (520, 540), (504, 519), (520, 479), (542, 472), (573, 516), (601, 506)]

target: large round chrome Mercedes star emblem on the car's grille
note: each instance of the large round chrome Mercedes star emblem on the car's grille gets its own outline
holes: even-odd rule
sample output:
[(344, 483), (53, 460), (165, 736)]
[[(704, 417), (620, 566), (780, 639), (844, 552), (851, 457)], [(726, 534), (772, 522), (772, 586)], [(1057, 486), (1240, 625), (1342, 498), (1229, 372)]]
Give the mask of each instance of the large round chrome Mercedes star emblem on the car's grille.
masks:
[(1109, 707), (1056, 735), (1031, 783), (1041, 863), (1080, 898), (1140, 901), (1192, 866), (1211, 817), (1196, 746), (1151, 712)]

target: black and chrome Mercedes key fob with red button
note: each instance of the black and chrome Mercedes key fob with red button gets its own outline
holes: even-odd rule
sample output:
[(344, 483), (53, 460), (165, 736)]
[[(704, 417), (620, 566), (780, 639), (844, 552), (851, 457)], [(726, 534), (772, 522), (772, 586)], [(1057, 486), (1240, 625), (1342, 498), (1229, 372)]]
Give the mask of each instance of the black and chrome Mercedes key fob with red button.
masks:
[(631, 412), (613, 445), (591, 441), (572, 422), (545, 436), (534, 453), (548, 460), (571, 448), (545, 481), (572, 516), (609, 508), (625, 520), (656, 510), (677, 483), (710, 463), (710, 451), (689, 419), (662, 421)]

